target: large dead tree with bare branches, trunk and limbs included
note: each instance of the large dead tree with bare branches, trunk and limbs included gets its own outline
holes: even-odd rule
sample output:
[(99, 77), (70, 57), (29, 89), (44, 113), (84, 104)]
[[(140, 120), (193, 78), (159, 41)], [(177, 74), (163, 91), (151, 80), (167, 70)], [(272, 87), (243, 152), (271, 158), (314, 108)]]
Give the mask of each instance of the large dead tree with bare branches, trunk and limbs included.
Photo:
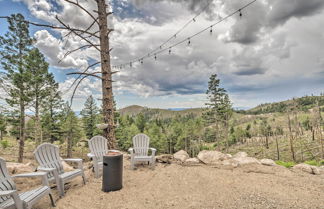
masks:
[[(60, 17), (56, 16), (57, 24), (47, 25), (47, 24), (39, 24), (35, 22), (30, 22), (23, 20), (23, 22), (28, 23), (30, 25), (39, 26), (39, 27), (46, 27), (55, 30), (65, 30), (68, 33), (64, 36), (65, 38), (69, 38), (69, 36), (73, 35), (79, 37), (83, 40), (86, 44), (80, 46), (76, 49), (72, 49), (65, 53), (65, 57), (68, 55), (82, 50), (86, 48), (95, 48), (100, 53), (100, 61), (91, 64), (88, 66), (83, 72), (74, 72), (69, 73), (70, 75), (77, 74), (78, 77), (75, 79), (75, 82), (72, 86), (74, 86), (73, 94), (71, 97), (71, 103), (76, 92), (76, 89), (80, 85), (80, 83), (87, 77), (95, 77), (101, 80), (102, 82), (102, 108), (103, 108), (103, 118), (104, 123), (108, 124), (108, 127), (104, 130), (104, 136), (108, 139), (108, 147), (114, 148), (115, 147), (115, 132), (114, 132), (114, 104), (113, 104), (113, 91), (112, 91), (112, 74), (115, 73), (111, 69), (110, 65), (110, 52), (111, 49), (109, 48), (109, 34), (113, 31), (113, 29), (108, 28), (108, 21), (107, 18), (112, 12), (107, 11), (108, 5), (106, 4), (105, 0), (93, 0), (96, 4), (98, 10), (91, 10), (90, 8), (86, 8), (79, 3), (78, 0), (64, 0), (65, 2), (72, 4), (84, 13), (86, 13), (89, 18), (92, 19), (91, 24), (86, 28), (77, 28), (72, 27)], [(10, 19), (8, 16), (1, 16), (0, 18)], [(98, 28), (97, 31), (94, 29)], [(88, 72), (91, 67), (95, 65), (101, 64), (101, 71), (98, 72)]]

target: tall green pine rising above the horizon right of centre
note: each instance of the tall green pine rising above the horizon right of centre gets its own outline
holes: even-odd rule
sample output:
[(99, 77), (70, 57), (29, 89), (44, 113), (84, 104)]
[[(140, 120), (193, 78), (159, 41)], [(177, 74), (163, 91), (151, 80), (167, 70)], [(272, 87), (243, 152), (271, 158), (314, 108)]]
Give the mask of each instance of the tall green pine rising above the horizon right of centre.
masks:
[[(210, 76), (206, 94), (209, 102), (206, 103), (208, 109), (204, 114), (204, 119), (207, 124), (214, 124), (217, 132), (224, 131), (228, 147), (228, 123), (233, 112), (232, 104), (226, 90), (220, 87), (220, 80), (216, 74)], [(217, 138), (215, 141), (217, 141)]]

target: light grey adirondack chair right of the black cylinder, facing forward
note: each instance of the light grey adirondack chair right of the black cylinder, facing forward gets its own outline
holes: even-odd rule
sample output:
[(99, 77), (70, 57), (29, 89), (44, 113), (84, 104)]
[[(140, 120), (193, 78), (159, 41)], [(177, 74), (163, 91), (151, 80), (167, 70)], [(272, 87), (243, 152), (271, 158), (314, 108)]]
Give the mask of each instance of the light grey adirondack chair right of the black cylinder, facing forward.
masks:
[[(145, 134), (137, 134), (133, 137), (133, 147), (128, 151), (131, 154), (131, 168), (135, 168), (137, 162), (149, 162), (149, 164), (155, 166), (155, 148), (150, 148), (150, 138)], [(152, 151), (151, 156), (148, 156), (148, 150)]]

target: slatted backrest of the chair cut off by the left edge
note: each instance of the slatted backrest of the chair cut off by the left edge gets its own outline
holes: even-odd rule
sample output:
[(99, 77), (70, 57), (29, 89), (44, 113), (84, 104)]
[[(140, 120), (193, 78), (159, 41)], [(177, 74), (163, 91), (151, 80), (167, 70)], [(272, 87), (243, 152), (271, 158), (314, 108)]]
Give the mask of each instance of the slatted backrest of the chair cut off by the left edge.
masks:
[[(8, 169), (6, 167), (6, 161), (0, 158), (0, 191), (15, 190), (16, 185), (13, 182), (11, 176), (9, 175)], [(10, 196), (0, 197), (0, 203), (9, 199)]]

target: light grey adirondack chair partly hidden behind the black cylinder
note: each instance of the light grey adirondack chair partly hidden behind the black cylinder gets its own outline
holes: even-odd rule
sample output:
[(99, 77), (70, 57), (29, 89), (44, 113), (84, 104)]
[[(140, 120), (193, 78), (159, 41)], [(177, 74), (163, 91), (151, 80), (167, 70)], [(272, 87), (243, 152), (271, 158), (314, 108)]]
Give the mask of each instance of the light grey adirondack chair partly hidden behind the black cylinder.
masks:
[(94, 136), (89, 142), (90, 153), (88, 153), (88, 157), (93, 160), (93, 168), (95, 172), (95, 177), (99, 178), (102, 172), (102, 160), (103, 156), (108, 152), (107, 139), (103, 136)]

